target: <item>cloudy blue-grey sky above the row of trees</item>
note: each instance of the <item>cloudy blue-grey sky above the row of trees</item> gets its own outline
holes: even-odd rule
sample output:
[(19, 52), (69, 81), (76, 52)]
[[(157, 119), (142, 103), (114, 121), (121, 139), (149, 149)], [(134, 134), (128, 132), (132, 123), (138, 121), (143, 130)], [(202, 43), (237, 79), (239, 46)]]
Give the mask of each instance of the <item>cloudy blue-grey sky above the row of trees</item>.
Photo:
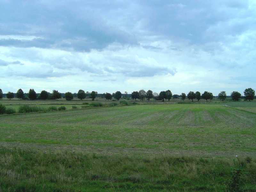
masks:
[(256, 89), (255, 0), (0, 0), (0, 88)]

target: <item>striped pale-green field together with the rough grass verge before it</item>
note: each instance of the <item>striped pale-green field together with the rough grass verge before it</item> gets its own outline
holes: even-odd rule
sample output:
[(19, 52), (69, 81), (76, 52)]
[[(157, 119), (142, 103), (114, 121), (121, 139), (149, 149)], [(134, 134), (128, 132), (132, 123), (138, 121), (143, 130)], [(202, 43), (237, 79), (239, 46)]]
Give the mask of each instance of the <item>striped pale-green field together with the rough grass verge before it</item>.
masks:
[(241, 103), (0, 116), (0, 186), (10, 191), (227, 191), (238, 177), (243, 190), (256, 191), (256, 113), (248, 111), (256, 105)]

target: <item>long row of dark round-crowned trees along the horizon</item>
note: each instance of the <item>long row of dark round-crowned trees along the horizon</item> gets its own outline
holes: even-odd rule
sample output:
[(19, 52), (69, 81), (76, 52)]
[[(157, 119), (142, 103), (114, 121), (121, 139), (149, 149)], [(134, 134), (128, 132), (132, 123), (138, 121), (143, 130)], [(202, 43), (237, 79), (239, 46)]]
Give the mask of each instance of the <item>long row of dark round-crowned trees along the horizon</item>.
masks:
[[(66, 98), (66, 100), (73, 100), (74, 97), (77, 97), (80, 100), (83, 100), (85, 98), (91, 98), (92, 100), (94, 100), (97, 97), (97, 95), (98, 95), (98, 92), (96, 92), (96, 91), (85, 92), (84, 90), (79, 90), (77, 93), (66, 92), (64, 95), (64, 98)], [(128, 95), (128, 93), (125, 92), (125, 95)], [(20, 100), (21, 99), (58, 100), (61, 98), (61, 93), (58, 90), (53, 90), (52, 93), (49, 93), (49, 92), (43, 90), (38, 95), (38, 94), (36, 94), (34, 89), (29, 89), (27, 96), (28, 96), (28, 98), (25, 96), (25, 93), (23, 92), (22, 89), (19, 89), (16, 93), (16, 97)], [(103, 93), (102, 96), (103, 96), (103, 98), (106, 98), (107, 100), (112, 100), (112, 98), (115, 98), (116, 100), (120, 100), (122, 98), (122, 93), (120, 91), (117, 91), (112, 94), (106, 92), (106, 93)], [(237, 91), (233, 91), (230, 96), (231, 96), (232, 100), (234, 100), (234, 101), (238, 101), (242, 97), (241, 93), (239, 93)], [(6, 97), (8, 99), (12, 99), (12, 98), (14, 98), (14, 93), (7, 92)], [(204, 99), (204, 100), (208, 101), (208, 100), (212, 100), (213, 97), (214, 97), (213, 94), (211, 92), (207, 92), (207, 91), (205, 91), (202, 94), (198, 91), (197, 92), (190, 91), (190, 92), (188, 92), (187, 95), (185, 93), (181, 93), (181, 95), (177, 95), (177, 94), (172, 95), (172, 92), (170, 90), (161, 91), (160, 93), (156, 93), (151, 90), (148, 90), (146, 92), (143, 89), (141, 89), (140, 91), (133, 91), (131, 94), (132, 100), (135, 100), (135, 101), (136, 101), (136, 99), (140, 99), (142, 101), (144, 101), (144, 100), (149, 101), (150, 99), (153, 99), (153, 98), (155, 100), (162, 100), (162, 101), (164, 101), (165, 99), (170, 101), (170, 99), (172, 99), (172, 98), (173, 99), (181, 98), (181, 100), (184, 101), (186, 98), (188, 98), (189, 100), (192, 100), (192, 102), (193, 102), (194, 100), (199, 101), (200, 99)], [(218, 94), (218, 97), (220, 100), (224, 101), (227, 98), (227, 94), (225, 91), (221, 91)], [(2, 98), (3, 98), (3, 91), (2, 91), (2, 89), (0, 89), (0, 99), (2, 99)], [(251, 101), (254, 98), (255, 98), (255, 91), (252, 88), (247, 88), (244, 90), (244, 99), (245, 100)]]

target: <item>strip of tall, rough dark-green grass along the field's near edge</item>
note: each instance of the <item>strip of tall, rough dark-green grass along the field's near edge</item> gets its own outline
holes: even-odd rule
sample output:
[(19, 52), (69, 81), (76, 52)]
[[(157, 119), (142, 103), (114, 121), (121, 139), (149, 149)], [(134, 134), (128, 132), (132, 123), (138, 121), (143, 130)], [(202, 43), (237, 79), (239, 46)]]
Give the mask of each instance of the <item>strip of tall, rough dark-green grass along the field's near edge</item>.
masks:
[(0, 147), (0, 191), (256, 191), (255, 159), (102, 156)]

